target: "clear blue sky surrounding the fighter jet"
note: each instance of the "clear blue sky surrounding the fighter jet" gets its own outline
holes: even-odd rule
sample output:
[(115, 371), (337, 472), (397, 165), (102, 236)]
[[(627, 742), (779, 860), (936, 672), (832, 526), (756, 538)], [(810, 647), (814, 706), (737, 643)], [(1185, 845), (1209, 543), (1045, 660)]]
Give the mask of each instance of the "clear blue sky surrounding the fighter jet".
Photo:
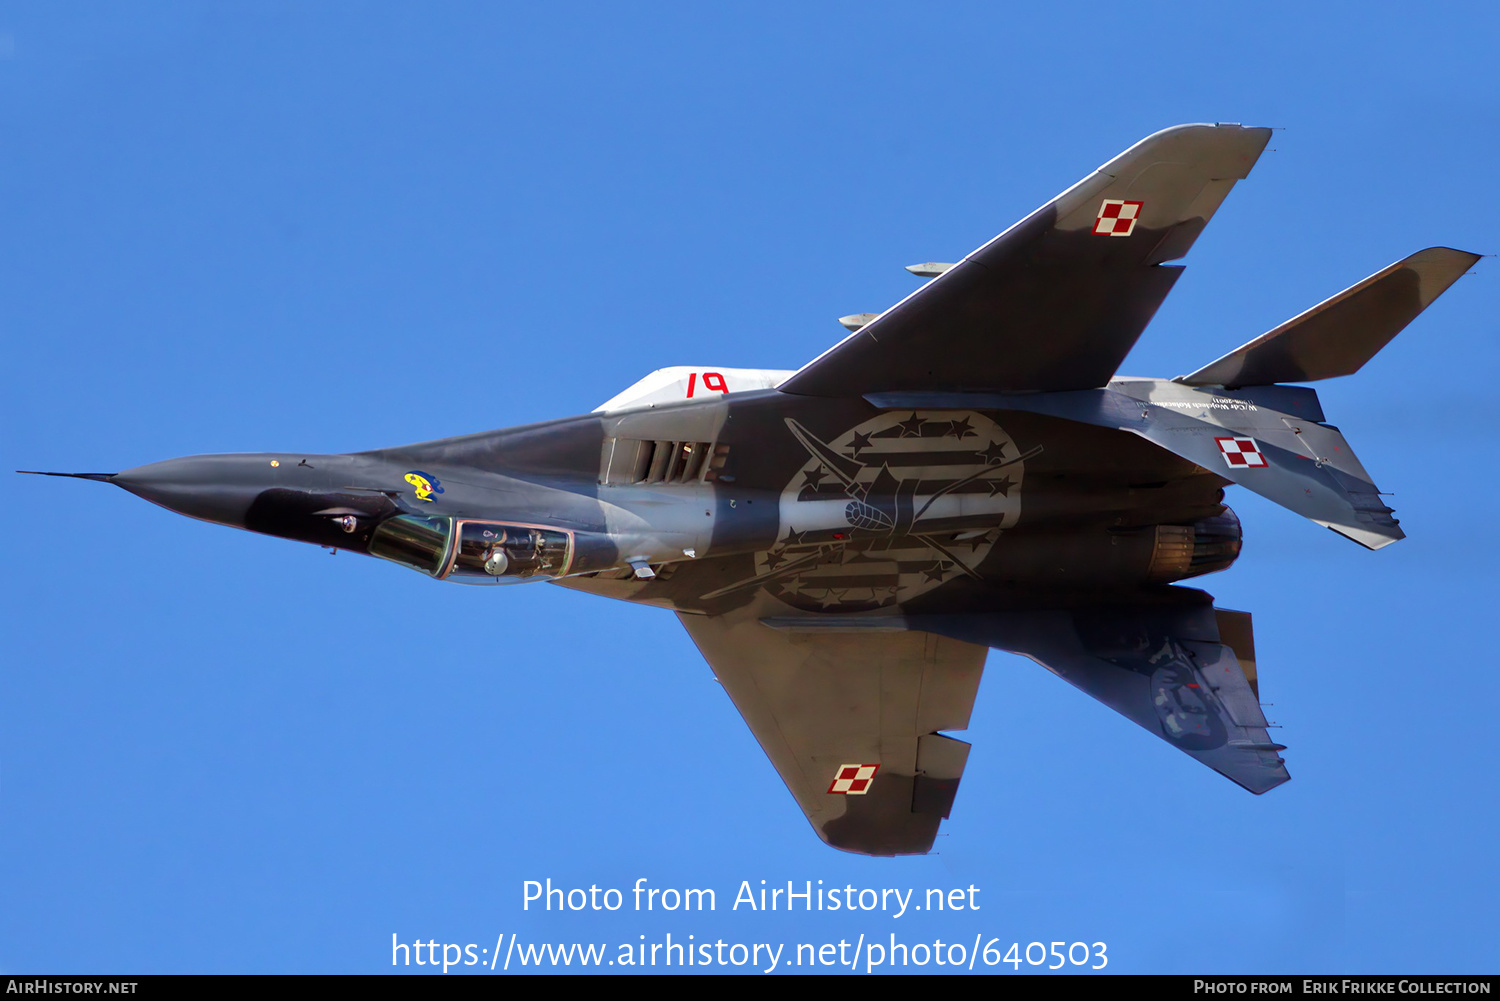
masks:
[[(1125, 365), (1176, 375), (1424, 246), (1500, 251), (1497, 29), (1486, 5), (12, 5), (0, 468), (369, 449), (582, 413), (663, 365), (796, 368), (904, 264), (1156, 129), (1282, 128)], [(1120, 972), (1492, 972), (1497, 269), (1320, 386), (1406, 542), (1230, 491), (1245, 552), (1203, 585), (1256, 614), (1293, 780), (1251, 797), (996, 653), (921, 858), (825, 848), (666, 612), (12, 477), (0, 969), (894, 933), (1102, 941)], [(548, 878), (718, 906), (524, 909)], [(980, 909), (730, 908), (762, 879)]]

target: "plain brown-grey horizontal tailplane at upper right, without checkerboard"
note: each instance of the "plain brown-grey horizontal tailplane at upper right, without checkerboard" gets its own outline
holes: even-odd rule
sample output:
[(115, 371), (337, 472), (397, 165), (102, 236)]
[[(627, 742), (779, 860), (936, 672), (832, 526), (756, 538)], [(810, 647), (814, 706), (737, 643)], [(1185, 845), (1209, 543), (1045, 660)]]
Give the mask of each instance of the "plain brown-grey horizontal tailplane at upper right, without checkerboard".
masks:
[(1238, 387), (1353, 375), (1478, 260), (1446, 246), (1418, 251), (1174, 381)]

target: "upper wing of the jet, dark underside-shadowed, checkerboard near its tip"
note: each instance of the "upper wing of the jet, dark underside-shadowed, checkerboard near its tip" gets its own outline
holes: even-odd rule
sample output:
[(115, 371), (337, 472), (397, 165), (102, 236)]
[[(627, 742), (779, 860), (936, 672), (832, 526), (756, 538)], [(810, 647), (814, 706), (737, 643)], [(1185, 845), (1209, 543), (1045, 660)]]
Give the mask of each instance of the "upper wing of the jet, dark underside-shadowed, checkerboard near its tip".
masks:
[(782, 383), (804, 396), (1104, 386), (1270, 129), (1148, 137)]

